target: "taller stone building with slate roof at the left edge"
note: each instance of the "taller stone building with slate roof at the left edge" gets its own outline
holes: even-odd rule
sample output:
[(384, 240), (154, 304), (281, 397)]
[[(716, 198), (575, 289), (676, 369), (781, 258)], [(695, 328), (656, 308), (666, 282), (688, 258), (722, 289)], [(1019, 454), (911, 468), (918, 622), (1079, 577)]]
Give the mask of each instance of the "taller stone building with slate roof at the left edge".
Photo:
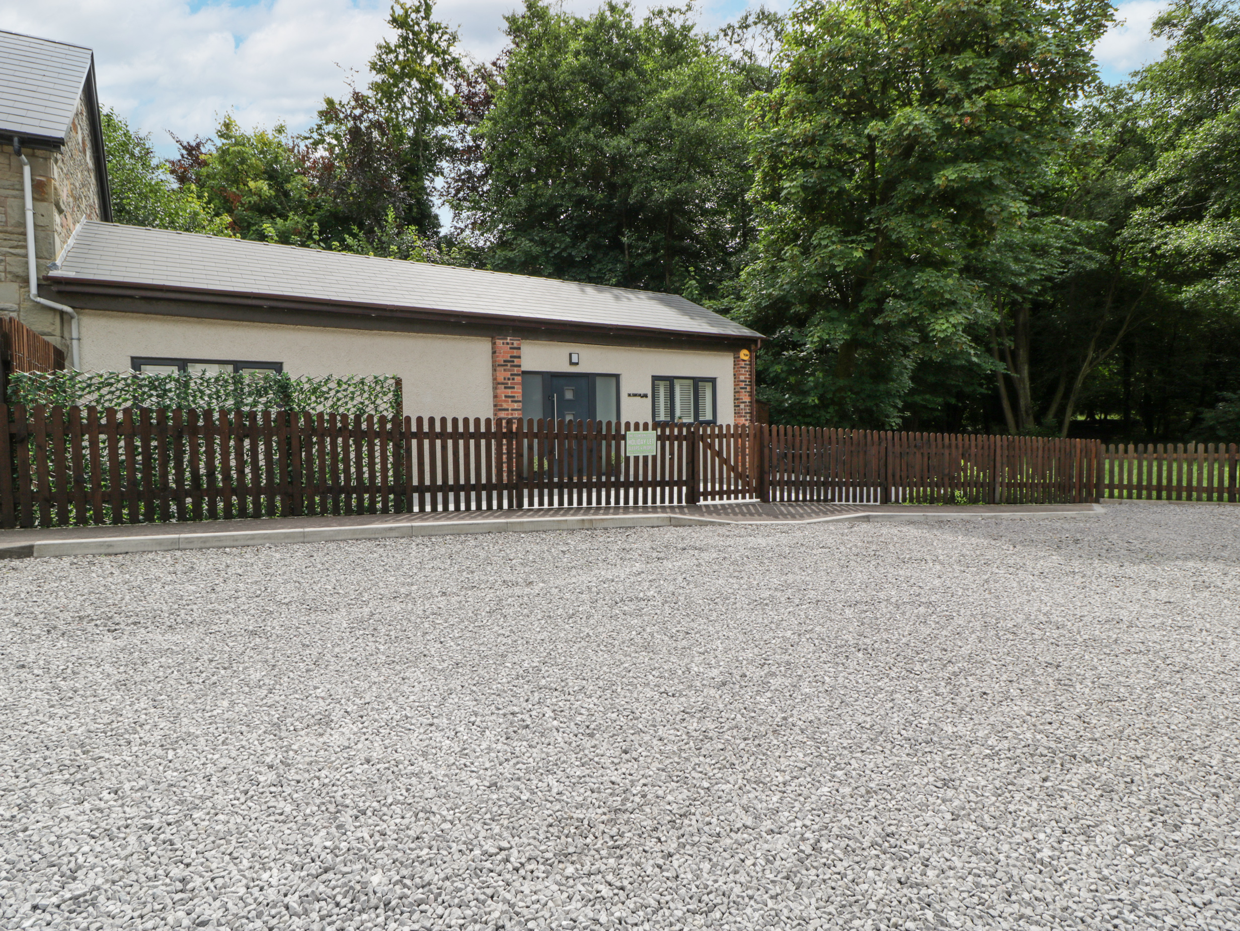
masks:
[(112, 219), (89, 48), (0, 32), (0, 314), (68, 351), (69, 319), (30, 299), (21, 159), (43, 274), (83, 219)]

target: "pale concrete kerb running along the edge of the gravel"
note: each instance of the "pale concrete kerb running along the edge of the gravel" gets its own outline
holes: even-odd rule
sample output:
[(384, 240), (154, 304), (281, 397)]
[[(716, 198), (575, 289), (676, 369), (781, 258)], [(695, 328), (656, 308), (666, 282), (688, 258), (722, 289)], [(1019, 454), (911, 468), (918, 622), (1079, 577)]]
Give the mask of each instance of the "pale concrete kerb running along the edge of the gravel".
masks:
[(308, 527), (305, 529), (229, 531), (226, 533), (167, 533), (145, 537), (104, 537), (91, 539), (42, 541), (0, 545), (0, 559), (31, 559), (72, 555), (118, 555), (120, 553), (159, 553), (181, 549), (218, 549), (223, 547), (264, 547), (279, 543), (324, 543), (350, 539), (393, 539), (401, 537), (441, 537), (456, 533), (537, 533), (546, 531), (585, 531), (620, 527), (696, 527), (711, 524), (800, 526), (811, 523), (960, 521), (987, 518), (1096, 517), (1090, 511), (1039, 511), (1008, 513), (915, 513), (858, 512), (832, 514), (805, 521), (729, 521), (719, 517), (688, 514), (620, 514), (615, 517), (522, 517), (498, 521), (451, 521), (443, 523), (387, 523), (355, 527)]

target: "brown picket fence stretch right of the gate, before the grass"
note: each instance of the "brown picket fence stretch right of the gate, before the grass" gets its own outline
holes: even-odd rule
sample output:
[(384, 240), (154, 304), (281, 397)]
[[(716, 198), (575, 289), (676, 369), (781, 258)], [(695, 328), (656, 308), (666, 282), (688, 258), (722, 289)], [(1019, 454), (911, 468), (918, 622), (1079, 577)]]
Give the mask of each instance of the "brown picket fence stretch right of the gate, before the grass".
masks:
[(770, 426), (764, 501), (1049, 505), (1094, 501), (1097, 443)]

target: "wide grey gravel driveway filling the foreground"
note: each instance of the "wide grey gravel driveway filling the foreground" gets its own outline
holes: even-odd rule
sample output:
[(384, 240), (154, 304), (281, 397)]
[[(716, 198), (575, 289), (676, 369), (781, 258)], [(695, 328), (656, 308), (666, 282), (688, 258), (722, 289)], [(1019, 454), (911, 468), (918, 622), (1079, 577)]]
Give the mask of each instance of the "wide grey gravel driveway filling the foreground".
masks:
[(0, 564), (0, 927), (1240, 927), (1240, 508)]

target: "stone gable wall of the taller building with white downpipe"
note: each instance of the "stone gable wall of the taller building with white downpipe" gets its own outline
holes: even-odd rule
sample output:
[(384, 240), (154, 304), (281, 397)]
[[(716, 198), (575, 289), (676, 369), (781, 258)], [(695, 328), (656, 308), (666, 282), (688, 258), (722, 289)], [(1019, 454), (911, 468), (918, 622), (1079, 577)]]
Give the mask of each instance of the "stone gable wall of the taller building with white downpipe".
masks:
[[(82, 219), (99, 219), (99, 186), (94, 167), (91, 120), (84, 100), (60, 152), (25, 149), (30, 161), (35, 206), (35, 255), (42, 274)], [(26, 217), (21, 191), (21, 160), (11, 140), (0, 149), (0, 314), (21, 322), (68, 350), (63, 314), (30, 300), (26, 274)]]

